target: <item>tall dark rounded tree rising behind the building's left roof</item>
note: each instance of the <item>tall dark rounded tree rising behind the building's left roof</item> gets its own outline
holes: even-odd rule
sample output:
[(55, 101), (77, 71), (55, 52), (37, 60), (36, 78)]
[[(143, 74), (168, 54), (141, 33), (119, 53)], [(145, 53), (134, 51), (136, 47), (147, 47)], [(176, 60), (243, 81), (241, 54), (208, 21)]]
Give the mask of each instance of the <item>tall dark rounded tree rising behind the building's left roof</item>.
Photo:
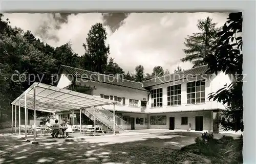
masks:
[(106, 30), (100, 23), (93, 25), (89, 30), (86, 44), (83, 43), (86, 50), (80, 63), (83, 69), (104, 73), (110, 51), (109, 45), (105, 45), (106, 35)]

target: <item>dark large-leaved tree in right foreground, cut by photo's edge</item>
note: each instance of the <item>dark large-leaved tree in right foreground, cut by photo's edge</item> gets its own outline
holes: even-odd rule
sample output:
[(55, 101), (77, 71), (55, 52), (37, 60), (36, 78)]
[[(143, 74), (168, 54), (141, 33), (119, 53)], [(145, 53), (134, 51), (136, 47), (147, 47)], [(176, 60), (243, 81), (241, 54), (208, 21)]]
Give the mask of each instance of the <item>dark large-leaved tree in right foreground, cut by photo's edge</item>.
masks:
[(242, 13), (230, 13), (222, 30), (217, 34), (220, 38), (215, 46), (215, 54), (205, 58), (208, 73), (224, 72), (232, 77), (233, 82), (210, 93), (210, 100), (217, 100), (227, 105), (221, 113), (220, 124), (225, 130), (244, 130), (243, 125), (243, 53), (242, 53)]

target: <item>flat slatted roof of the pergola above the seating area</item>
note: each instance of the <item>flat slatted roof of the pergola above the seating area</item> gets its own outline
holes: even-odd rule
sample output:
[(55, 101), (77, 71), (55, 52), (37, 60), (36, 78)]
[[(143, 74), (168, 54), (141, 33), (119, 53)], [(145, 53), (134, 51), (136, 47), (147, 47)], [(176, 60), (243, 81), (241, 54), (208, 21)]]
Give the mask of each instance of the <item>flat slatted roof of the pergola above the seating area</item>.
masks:
[(16, 103), (18, 106), (20, 100), (20, 107), (25, 108), (25, 95), (27, 95), (27, 109), (34, 110), (34, 87), (35, 108), (37, 111), (60, 112), (117, 103), (113, 100), (34, 82), (11, 104), (15, 105)]

